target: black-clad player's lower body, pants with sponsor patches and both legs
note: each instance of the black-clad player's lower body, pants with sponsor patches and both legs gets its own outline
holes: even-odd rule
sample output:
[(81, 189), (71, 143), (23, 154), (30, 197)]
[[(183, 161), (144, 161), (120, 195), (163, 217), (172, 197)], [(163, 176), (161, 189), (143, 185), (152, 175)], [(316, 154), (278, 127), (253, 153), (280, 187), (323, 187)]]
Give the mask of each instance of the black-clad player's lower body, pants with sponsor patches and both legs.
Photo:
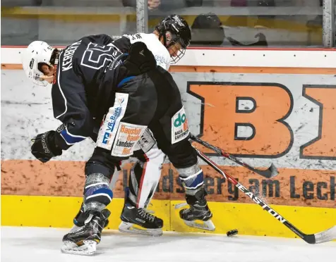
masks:
[[(84, 227), (64, 237), (67, 251), (94, 250), (92, 245), (95, 242), (92, 238), (98, 238), (95, 234), (100, 234), (103, 227), (99, 219), (106, 217), (104, 208), (112, 199), (107, 186), (110, 174), (119, 165), (119, 161), (133, 155), (136, 142), (147, 128), (184, 182), (186, 199), (191, 208), (185, 209), (182, 216), (186, 220), (192, 220), (195, 216), (210, 220), (212, 216), (205, 200), (203, 171), (198, 166), (196, 151), (188, 142), (188, 124), (179, 89), (172, 75), (156, 66), (154, 57), (150, 66), (143, 66), (140, 56), (145, 54), (147, 58), (150, 55), (143, 43), (136, 44), (139, 45), (131, 46), (128, 61), (126, 60), (130, 64), (124, 63), (127, 73), (123, 73), (124, 64), (116, 67), (112, 65), (112, 70), (107, 70), (102, 79), (100, 87), (105, 90), (105, 96), (111, 98), (107, 99), (111, 101), (111, 105), (109, 108), (102, 108), (108, 113), (100, 127), (95, 151), (85, 166), (87, 182), (84, 206), (85, 212), (91, 217)], [(132, 59), (132, 56), (136, 58)], [(136, 61), (140, 64), (135, 67), (133, 65)], [(134, 209), (131, 204), (126, 204), (124, 209), (128, 207)], [(136, 218), (140, 219), (137, 216)], [(82, 241), (84, 245), (78, 247), (78, 243), (81, 244)]]

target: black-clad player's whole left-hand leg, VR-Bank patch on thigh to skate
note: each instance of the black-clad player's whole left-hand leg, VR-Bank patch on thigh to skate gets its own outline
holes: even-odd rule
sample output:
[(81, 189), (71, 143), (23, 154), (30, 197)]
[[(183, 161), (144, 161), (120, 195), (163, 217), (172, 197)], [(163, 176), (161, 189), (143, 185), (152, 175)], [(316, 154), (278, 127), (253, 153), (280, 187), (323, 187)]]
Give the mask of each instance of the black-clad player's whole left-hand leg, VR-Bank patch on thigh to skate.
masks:
[[(146, 99), (143, 101), (148, 102)], [(115, 94), (114, 104), (100, 127), (97, 146), (85, 165), (82, 216), (88, 218), (83, 227), (64, 236), (62, 251), (71, 254), (95, 253), (95, 246), (100, 242), (102, 229), (109, 216), (106, 206), (113, 197), (109, 188), (111, 176), (119, 162), (133, 154), (134, 146), (152, 118), (152, 114), (138, 118), (137, 113), (144, 114), (138, 108), (140, 105), (131, 94)]]

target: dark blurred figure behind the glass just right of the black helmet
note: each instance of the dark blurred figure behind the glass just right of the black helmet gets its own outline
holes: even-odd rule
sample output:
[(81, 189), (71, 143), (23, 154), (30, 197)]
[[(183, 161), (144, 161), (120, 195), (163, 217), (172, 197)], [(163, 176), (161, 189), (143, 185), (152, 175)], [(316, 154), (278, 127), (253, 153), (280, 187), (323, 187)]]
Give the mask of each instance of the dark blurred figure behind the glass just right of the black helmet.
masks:
[(224, 28), (220, 18), (215, 13), (198, 15), (191, 25), (191, 44), (201, 46), (227, 45), (227, 39), (231, 46), (268, 46), (265, 35), (258, 33), (258, 41), (253, 44), (242, 44), (232, 37), (225, 37)]

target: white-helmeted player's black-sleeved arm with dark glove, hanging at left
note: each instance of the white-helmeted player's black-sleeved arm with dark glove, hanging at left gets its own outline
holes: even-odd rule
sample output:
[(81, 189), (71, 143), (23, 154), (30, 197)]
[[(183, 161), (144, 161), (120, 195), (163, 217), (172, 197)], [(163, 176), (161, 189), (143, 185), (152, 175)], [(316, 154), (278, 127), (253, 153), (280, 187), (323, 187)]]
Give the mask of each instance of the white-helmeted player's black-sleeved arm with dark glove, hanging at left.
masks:
[(56, 130), (37, 135), (31, 148), (32, 154), (43, 163), (90, 137), (93, 131), (93, 120), (80, 75), (73, 69), (64, 70), (59, 75), (60, 71), (61, 66), (52, 87), (52, 104), (54, 117), (62, 125)]

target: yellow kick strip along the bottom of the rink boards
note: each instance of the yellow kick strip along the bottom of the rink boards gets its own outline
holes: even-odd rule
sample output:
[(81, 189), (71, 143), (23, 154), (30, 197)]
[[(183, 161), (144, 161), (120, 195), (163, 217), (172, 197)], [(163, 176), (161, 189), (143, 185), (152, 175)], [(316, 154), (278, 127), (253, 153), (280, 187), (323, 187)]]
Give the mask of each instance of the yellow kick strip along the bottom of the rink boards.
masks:
[[(33, 227), (72, 227), (73, 217), (80, 208), (81, 197), (62, 196), (1, 196), (1, 225)], [(204, 232), (184, 225), (176, 204), (182, 201), (153, 200), (150, 210), (164, 220), (164, 231)], [(113, 199), (109, 229), (118, 229), (124, 199)], [(215, 234), (237, 229), (240, 235), (297, 237), (282, 223), (256, 204), (210, 202)], [(335, 208), (279, 206), (272, 208), (306, 234), (323, 231), (336, 221)]]

